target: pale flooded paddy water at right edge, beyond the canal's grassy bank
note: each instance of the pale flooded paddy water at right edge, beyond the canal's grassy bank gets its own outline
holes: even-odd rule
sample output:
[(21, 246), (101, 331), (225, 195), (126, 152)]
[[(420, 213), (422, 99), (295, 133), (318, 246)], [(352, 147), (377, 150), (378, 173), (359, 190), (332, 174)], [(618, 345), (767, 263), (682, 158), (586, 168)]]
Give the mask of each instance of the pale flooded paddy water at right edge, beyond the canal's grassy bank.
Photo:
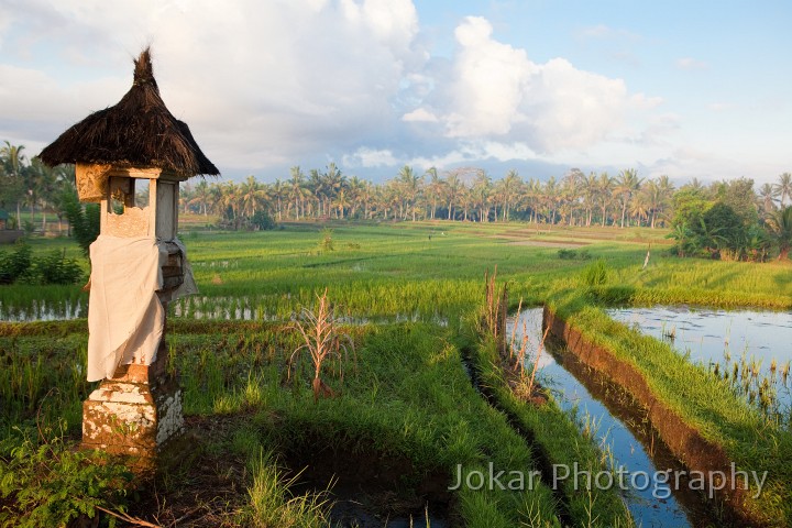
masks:
[[(792, 378), (783, 383), (781, 371), (792, 360), (792, 314), (785, 311), (727, 311), (689, 307), (618, 308), (606, 310), (617, 321), (645, 334), (664, 339), (680, 353), (704, 365), (726, 366), (761, 362), (760, 377), (771, 376), (776, 360), (776, 391), (781, 411), (792, 404)], [(674, 339), (670, 340), (669, 334)]]

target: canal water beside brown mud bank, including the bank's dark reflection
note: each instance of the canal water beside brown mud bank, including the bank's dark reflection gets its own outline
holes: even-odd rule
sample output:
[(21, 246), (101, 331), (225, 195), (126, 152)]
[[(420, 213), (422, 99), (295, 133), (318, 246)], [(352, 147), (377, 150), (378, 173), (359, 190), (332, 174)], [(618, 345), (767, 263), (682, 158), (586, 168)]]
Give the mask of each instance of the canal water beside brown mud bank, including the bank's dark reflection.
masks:
[[(541, 308), (524, 310), (510, 321), (517, 324), (515, 342), (521, 343), (525, 329), (532, 343), (526, 358), (528, 369), (532, 369), (541, 341)], [(613, 457), (614, 468), (623, 475), (622, 487), (628, 488), (624, 498), (636, 526), (719, 525), (705, 498), (691, 491), (695, 486), (689, 485), (685, 468), (657, 437), (629, 394), (583, 365), (558, 340), (548, 339), (539, 364), (539, 382), (553, 393), (562, 409), (575, 413), (580, 428)]]

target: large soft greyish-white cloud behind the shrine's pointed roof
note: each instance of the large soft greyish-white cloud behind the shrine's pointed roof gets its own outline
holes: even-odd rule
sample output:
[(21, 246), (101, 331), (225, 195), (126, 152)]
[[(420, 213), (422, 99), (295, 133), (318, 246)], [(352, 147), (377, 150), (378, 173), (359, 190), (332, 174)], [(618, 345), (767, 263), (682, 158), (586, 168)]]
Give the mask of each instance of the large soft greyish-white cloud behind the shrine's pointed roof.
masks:
[(16, 8), (7, 44), (14, 26), (26, 24), (30, 35), (31, 26), (58, 22), (53, 32), (16, 38), (19, 61), (35, 57), (48, 38), (59, 48), (50, 58), (59, 63), (53, 70), (79, 76), (87, 64), (112, 65), (125, 88), (76, 87), (34, 70), (14, 81), (3, 75), (0, 90), (15, 98), (0, 119), (20, 97), (31, 101), (26, 111), (37, 101), (37, 112), (67, 113), (72, 122), (86, 106), (114, 105), (131, 81), (131, 57), (151, 43), (166, 105), (224, 166), (263, 166), (323, 148), (330, 139), (344, 145), (382, 133), (394, 119), (389, 99), (400, 79), (424, 59), (413, 50), (418, 20), (409, 0), (30, 0)]

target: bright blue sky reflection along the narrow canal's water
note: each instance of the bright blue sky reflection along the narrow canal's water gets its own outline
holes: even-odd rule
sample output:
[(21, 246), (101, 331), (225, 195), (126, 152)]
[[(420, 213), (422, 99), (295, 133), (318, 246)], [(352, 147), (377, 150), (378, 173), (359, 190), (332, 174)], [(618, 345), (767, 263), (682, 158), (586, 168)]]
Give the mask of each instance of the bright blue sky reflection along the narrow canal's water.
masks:
[[(528, 332), (527, 362), (528, 370), (534, 367), (534, 358), (538, 343), (541, 341), (541, 308), (524, 310), (517, 322), (515, 343), (519, 346), (522, 343), (522, 329)], [(507, 336), (512, 336), (513, 322), (509, 321)], [(645, 472), (653, 476), (658, 471), (647, 449), (630, 432), (628, 427), (618, 418), (613, 416), (608, 408), (600, 399), (594, 397), (586, 387), (579, 382), (570, 372), (560, 365), (551, 353), (542, 351), (539, 356), (540, 371), (537, 380), (546, 387), (549, 387), (558, 404), (564, 410), (576, 408), (580, 421), (587, 421), (595, 428), (597, 440), (609, 449), (615, 458), (615, 464), (625, 466), (630, 474)], [(661, 471), (667, 466), (659, 468)], [(642, 483), (642, 481), (639, 481)], [(632, 490), (628, 493), (627, 505), (634, 516), (636, 526), (649, 527), (680, 527), (691, 526), (682, 506), (678, 502), (678, 494), (668, 498), (656, 498), (654, 495), (666, 497), (668, 490), (661, 483), (652, 481), (647, 490)], [(630, 480), (627, 480), (630, 483)], [(639, 484), (640, 485), (640, 484)], [(681, 499), (681, 498), (680, 498)], [(683, 502), (693, 502), (689, 498)]]

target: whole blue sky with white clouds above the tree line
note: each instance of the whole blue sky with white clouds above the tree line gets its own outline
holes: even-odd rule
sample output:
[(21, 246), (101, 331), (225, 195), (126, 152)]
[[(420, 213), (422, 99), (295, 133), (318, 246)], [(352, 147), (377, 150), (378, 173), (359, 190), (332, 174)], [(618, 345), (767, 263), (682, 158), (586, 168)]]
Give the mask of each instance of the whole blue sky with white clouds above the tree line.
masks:
[(227, 179), (404, 165), (527, 179), (792, 172), (792, 2), (0, 0), (0, 141), (35, 155), (132, 84)]

